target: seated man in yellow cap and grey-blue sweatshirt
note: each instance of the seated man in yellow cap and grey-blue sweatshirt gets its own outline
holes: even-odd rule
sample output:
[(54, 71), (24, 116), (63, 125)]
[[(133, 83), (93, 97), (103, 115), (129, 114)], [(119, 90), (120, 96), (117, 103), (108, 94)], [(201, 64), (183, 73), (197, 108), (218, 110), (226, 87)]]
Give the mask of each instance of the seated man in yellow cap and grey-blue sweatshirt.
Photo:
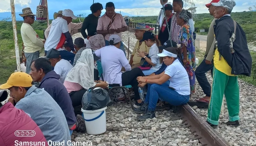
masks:
[(37, 123), (47, 141), (71, 141), (62, 109), (46, 91), (32, 86), (32, 81), (29, 74), (15, 72), (5, 84), (0, 85), (0, 89), (9, 89), (11, 97), (8, 101), (13, 105), (16, 103), (17, 109), (22, 109)]

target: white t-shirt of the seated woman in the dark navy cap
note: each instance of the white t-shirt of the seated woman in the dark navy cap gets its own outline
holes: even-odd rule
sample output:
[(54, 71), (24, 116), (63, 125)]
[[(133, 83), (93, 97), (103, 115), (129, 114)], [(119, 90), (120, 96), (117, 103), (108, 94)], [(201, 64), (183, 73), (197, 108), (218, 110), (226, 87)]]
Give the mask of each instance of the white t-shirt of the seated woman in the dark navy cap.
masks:
[(160, 69), (162, 66), (162, 64), (160, 64), (160, 57), (157, 54), (159, 54), (159, 50), (156, 43), (154, 43), (149, 49), (148, 56), (150, 57), (151, 62), (155, 64), (155, 66), (152, 66), (151, 69), (156, 71), (158, 71), (158, 69)]

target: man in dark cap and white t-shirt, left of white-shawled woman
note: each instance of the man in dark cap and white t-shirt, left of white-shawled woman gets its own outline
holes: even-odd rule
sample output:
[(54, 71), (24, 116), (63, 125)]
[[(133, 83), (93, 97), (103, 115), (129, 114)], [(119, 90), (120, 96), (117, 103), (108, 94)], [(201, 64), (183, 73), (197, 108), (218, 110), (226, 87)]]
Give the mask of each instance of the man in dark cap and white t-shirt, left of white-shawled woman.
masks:
[(69, 61), (61, 59), (60, 52), (56, 49), (48, 50), (45, 58), (51, 62), (51, 65), (54, 67), (56, 74), (60, 75), (59, 80), (63, 84), (67, 74), (71, 68), (73, 68), (73, 66)]

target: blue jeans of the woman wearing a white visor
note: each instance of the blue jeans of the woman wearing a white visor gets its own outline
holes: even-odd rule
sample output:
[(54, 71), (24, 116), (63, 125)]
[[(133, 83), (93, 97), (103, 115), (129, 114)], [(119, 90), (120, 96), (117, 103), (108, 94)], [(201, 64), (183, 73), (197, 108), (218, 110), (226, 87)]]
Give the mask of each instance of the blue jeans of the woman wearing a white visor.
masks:
[(158, 98), (173, 106), (183, 105), (189, 101), (189, 95), (180, 95), (175, 90), (169, 88), (169, 84), (166, 84), (166, 82), (162, 85), (148, 84), (145, 103), (148, 103), (149, 111), (155, 111)]

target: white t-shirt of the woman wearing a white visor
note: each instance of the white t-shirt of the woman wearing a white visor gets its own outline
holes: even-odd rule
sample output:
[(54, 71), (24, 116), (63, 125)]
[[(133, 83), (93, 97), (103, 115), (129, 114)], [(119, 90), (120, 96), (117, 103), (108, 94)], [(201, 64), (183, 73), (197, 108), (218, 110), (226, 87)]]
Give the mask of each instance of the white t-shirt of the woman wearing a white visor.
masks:
[(190, 83), (186, 69), (180, 63), (179, 59), (165, 69), (165, 74), (169, 75), (169, 87), (175, 89), (180, 95), (190, 95)]

